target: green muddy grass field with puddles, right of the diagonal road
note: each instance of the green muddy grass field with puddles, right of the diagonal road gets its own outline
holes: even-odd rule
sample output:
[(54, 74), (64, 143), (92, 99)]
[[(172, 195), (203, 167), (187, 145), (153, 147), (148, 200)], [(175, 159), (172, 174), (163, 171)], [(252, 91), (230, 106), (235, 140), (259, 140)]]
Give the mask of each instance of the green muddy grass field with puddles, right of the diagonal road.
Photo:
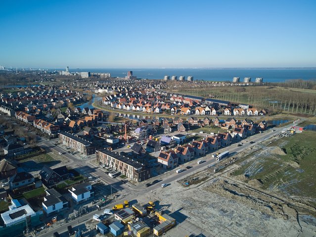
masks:
[[(316, 132), (304, 131), (272, 142), (283, 152), (266, 154), (243, 165), (233, 175), (244, 174), (250, 180), (261, 180), (262, 188), (287, 195), (307, 197), (316, 204)], [(252, 154), (254, 155), (254, 154)]]

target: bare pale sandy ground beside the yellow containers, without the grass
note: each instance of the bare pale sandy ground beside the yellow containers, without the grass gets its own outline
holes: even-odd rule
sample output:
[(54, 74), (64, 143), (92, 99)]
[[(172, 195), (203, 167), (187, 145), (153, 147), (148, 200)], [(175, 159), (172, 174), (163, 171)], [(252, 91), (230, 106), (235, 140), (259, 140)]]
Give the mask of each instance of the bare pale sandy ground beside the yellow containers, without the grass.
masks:
[[(166, 205), (172, 212), (181, 212), (183, 219), (206, 230), (210, 233), (209, 236), (316, 235), (315, 218), (297, 216), (294, 209), (277, 202), (269, 206), (271, 203), (266, 202), (262, 195), (249, 195), (247, 201), (242, 201), (237, 195), (227, 194), (229, 191), (225, 189), (228, 186), (223, 186), (225, 182), (222, 178), (216, 178), (194, 188), (184, 188), (176, 183), (148, 193), (147, 198), (156, 198), (160, 206)], [(300, 219), (299, 222), (297, 218)], [(184, 233), (179, 233), (179, 229), (181, 227), (178, 226), (167, 232), (167, 235), (184, 237)]]

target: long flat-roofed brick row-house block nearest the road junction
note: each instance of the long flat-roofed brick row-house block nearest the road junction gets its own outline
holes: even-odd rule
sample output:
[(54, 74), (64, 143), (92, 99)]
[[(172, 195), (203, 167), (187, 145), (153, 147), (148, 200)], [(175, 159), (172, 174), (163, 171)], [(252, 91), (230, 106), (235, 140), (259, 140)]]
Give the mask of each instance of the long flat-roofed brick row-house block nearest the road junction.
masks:
[(107, 149), (98, 150), (96, 160), (135, 182), (142, 182), (150, 178), (150, 169), (147, 166), (119, 153)]

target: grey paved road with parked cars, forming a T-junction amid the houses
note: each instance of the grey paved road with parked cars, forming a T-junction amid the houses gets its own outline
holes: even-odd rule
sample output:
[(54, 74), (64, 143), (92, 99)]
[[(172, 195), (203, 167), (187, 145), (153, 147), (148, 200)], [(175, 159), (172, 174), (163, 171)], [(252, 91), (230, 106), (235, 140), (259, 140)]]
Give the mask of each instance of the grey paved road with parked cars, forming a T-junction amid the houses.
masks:
[[(300, 122), (303, 122), (300, 121)], [(232, 144), (226, 148), (222, 148), (220, 150), (217, 150), (216, 152), (223, 152), (228, 150), (230, 154), (232, 153), (239, 153), (241, 151), (243, 151), (244, 149), (250, 148), (254, 145), (256, 145), (257, 143), (266, 141), (274, 136), (278, 136), (284, 129), (290, 129), (292, 125), (287, 125), (281, 128), (275, 128), (273, 131), (272, 130), (268, 130), (265, 131), (264, 133), (261, 134), (256, 134), (254, 136), (251, 136), (245, 140), (242, 140), (241, 142), (243, 143), (242, 146), (238, 146), (238, 143)], [(250, 143), (250, 142), (254, 142), (254, 143)], [(46, 142), (46, 144), (49, 144), (50, 142)], [(51, 146), (52, 149), (55, 149), (57, 152), (61, 151), (64, 152), (64, 150), (62, 148), (60, 148), (59, 146)], [(82, 166), (89, 166), (91, 168), (91, 172), (93, 175), (95, 175), (96, 177), (102, 179), (104, 182), (106, 182), (107, 184), (112, 184), (115, 185), (117, 184), (118, 180), (117, 179), (112, 179), (110, 177), (108, 177), (108, 175), (105, 175), (104, 172), (100, 171), (99, 168), (94, 167), (92, 164), (90, 164), (88, 161), (85, 160), (80, 160), (78, 158), (75, 158), (73, 155), (69, 154), (69, 153), (65, 153), (64, 154), (68, 159), (72, 160), (73, 162), (76, 162), (76, 165), (78, 166), (78, 169), (82, 169)], [(161, 176), (158, 177), (153, 177), (150, 181), (147, 181), (145, 183), (148, 182), (152, 182), (153, 180), (159, 180), (159, 182), (157, 184), (154, 184), (150, 187), (145, 187), (145, 183), (140, 184), (136, 187), (131, 187), (128, 186), (126, 184), (121, 184), (119, 189), (119, 193), (122, 194), (120, 196), (120, 199), (116, 200), (115, 202), (112, 202), (111, 204), (107, 205), (104, 208), (111, 208), (113, 207), (115, 204), (118, 203), (122, 203), (123, 200), (135, 200), (137, 198), (140, 198), (141, 196), (144, 196), (144, 194), (148, 191), (154, 191), (154, 190), (158, 190), (158, 189), (168, 189), (168, 186), (166, 188), (162, 188), (161, 184), (172, 184), (174, 182), (177, 182), (180, 179), (185, 178), (186, 176), (190, 176), (194, 173), (197, 173), (199, 171), (205, 170), (207, 169), (209, 166), (212, 166), (214, 164), (216, 164), (218, 161), (216, 161), (215, 158), (212, 157), (212, 154), (208, 154), (204, 157), (201, 157), (199, 160), (205, 160), (205, 162), (203, 162), (202, 164), (197, 164), (196, 160), (190, 161), (186, 164), (182, 164), (180, 166), (181, 169), (184, 169), (183, 172), (181, 173), (176, 173), (175, 170), (169, 171), (164, 173)], [(191, 169), (185, 170), (185, 166), (192, 166)], [(100, 176), (99, 176), (100, 175)], [(104, 176), (105, 175), (105, 176)], [(116, 186), (117, 187), (117, 186)], [(122, 189), (123, 188), (123, 189)], [(40, 234), (38, 236), (51, 236), (53, 234), (53, 232), (58, 232), (59, 234), (61, 233), (66, 233), (67, 232), (67, 226), (68, 225), (72, 225), (74, 230), (77, 230), (78, 228), (80, 228), (81, 230), (83, 230), (85, 228), (85, 222), (87, 220), (90, 220), (93, 216), (93, 214), (103, 214), (102, 210), (96, 210), (93, 212), (90, 212), (89, 214), (86, 214), (74, 221), (71, 221), (65, 225), (62, 226), (58, 226), (56, 228), (54, 228), (53, 230), (50, 230), (44, 234)], [(79, 221), (79, 223), (78, 223)], [(65, 235), (66, 236), (66, 235)]]

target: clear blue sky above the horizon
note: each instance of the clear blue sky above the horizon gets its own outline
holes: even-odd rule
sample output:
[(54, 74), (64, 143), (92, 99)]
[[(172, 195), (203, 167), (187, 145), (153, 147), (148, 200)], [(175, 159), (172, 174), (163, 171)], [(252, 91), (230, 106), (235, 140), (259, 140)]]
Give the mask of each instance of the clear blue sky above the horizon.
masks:
[(315, 67), (316, 0), (2, 0), (0, 65)]

